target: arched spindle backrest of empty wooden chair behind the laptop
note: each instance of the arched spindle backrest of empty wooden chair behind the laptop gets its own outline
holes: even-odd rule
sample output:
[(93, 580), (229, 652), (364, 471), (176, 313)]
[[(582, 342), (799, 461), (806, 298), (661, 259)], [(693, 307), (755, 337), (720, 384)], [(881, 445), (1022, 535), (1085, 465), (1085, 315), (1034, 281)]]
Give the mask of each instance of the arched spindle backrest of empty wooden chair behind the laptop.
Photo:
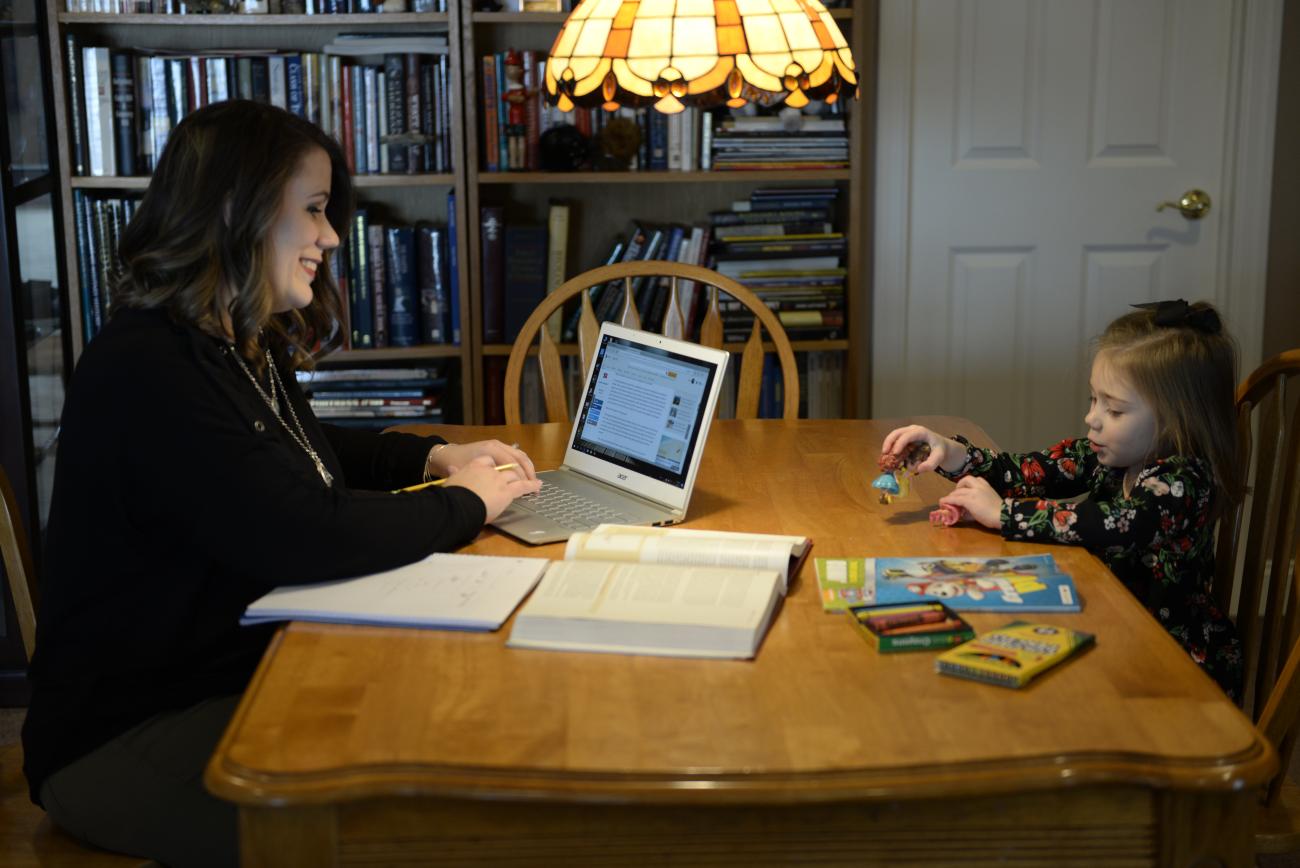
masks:
[[(566, 301), (581, 294), (581, 314), (578, 318), (577, 343), (578, 359), (582, 370), (590, 366), (595, 353), (595, 340), (601, 331), (601, 325), (595, 320), (592, 307), (592, 287), (603, 287), (603, 294), (621, 292), (621, 312), (616, 322), (630, 329), (641, 329), (641, 317), (637, 313), (636, 292), (645, 290), (645, 294), (662, 291), (660, 278), (667, 281), (667, 299), (660, 333), (670, 338), (688, 339), (685, 334), (690, 324), (685, 322), (681, 311), (682, 292), (693, 288), (693, 298), (699, 298), (705, 304), (705, 317), (699, 326), (698, 342), (707, 347), (723, 347), (723, 322), (719, 313), (719, 292), (725, 292), (745, 305), (754, 314), (754, 326), (749, 339), (741, 352), (740, 378), (736, 391), (736, 418), (754, 418), (758, 416), (759, 387), (763, 379), (763, 352), (764, 344), (762, 330), (766, 329), (771, 339), (772, 348), (781, 363), (783, 383), (783, 418), (798, 418), (800, 413), (800, 379), (798, 368), (794, 363), (794, 351), (790, 348), (785, 329), (762, 299), (745, 288), (729, 277), (698, 265), (685, 265), (681, 262), (667, 262), (658, 260), (644, 260), (637, 262), (618, 262), (615, 265), (602, 265), (590, 272), (584, 272), (571, 281), (566, 281), (554, 292), (547, 294), (542, 303), (537, 305), (533, 314), (528, 317), (524, 326), (515, 338), (515, 344), (510, 351), (510, 361), (506, 364), (506, 395), (504, 409), (506, 422), (517, 425), (519, 389), (524, 374), (524, 360), (529, 348), (537, 339), (537, 356), (542, 374), (542, 392), (546, 400), (546, 421), (569, 421), (568, 400), (564, 391), (564, 377), (560, 369), (560, 353), (555, 344), (555, 338), (550, 329), (542, 325), (559, 311)], [(616, 298), (616, 296), (615, 296)], [(689, 312), (688, 312), (689, 314)], [(647, 324), (649, 327), (650, 324)]]

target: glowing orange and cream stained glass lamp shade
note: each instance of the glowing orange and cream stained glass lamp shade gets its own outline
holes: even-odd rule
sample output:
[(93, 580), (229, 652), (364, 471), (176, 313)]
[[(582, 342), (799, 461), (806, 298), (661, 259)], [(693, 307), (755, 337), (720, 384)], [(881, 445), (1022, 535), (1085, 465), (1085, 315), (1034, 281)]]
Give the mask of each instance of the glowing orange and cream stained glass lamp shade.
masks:
[(546, 94), (575, 105), (785, 104), (853, 94), (853, 53), (819, 0), (581, 0), (546, 60)]

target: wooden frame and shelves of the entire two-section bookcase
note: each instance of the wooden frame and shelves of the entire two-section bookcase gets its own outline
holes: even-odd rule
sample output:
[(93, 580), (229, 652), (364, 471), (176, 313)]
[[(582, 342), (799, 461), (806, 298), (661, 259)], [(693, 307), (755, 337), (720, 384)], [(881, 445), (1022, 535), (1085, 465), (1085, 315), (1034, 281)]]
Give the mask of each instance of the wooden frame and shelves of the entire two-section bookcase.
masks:
[[(472, 0), (450, 0), (446, 13), (367, 13), (367, 14), (101, 14), (69, 13), (61, 0), (46, 0), (48, 39), (55, 88), (61, 223), (66, 264), (66, 303), (72, 329), (73, 356), (83, 347), (81, 286), (77, 270), (77, 242), (73, 218), (73, 191), (100, 190), (129, 194), (143, 191), (147, 177), (74, 177), (69, 126), (65, 34), (75, 32), (82, 44), (139, 51), (282, 49), (318, 51), (339, 32), (390, 32), (402, 35), (411, 29), (448, 32), (448, 68), (459, 71), (459, 91), (452, 90), (452, 172), (450, 174), (359, 175), (359, 203), (382, 205), (386, 214), (403, 222), (430, 220), (447, 223), (447, 192), (456, 196), (456, 257), (460, 300), (462, 340), (459, 346), (416, 346), (410, 348), (352, 350), (321, 361), (322, 366), (359, 366), (378, 361), (429, 360), (459, 363), (462, 405), (465, 422), (484, 418), (484, 357), (508, 355), (507, 344), (485, 344), (481, 325), (481, 249), (478, 209), (481, 204), (504, 205), (510, 216), (526, 216), (545, 223), (551, 198), (563, 198), (577, 207), (572, 212), (569, 235), (569, 275), (599, 264), (610, 240), (610, 227), (625, 227), (630, 218), (647, 222), (703, 220), (711, 209), (725, 208), (733, 199), (748, 196), (759, 186), (833, 183), (840, 188), (840, 223), (848, 238), (848, 338), (801, 342), (798, 351), (837, 351), (844, 361), (844, 412), (854, 416), (866, 409), (864, 370), (870, 338), (870, 207), (868, 179), (874, 160), (870, 142), (872, 117), (872, 75), (864, 75), (859, 100), (850, 113), (850, 168), (810, 172), (614, 172), (540, 173), (480, 170), (481, 82), (480, 57), (508, 47), (532, 48), (545, 57), (564, 21), (563, 13), (473, 12)], [(875, 0), (859, 0), (855, 9), (837, 9), (854, 60), (862, 70), (874, 64)], [(859, 79), (861, 81), (861, 79)], [(456, 134), (459, 133), (459, 135)], [(737, 347), (738, 350), (738, 347)], [(451, 411), (451, 408), (448, 408)], [(448, 421), (456, 413), (448, 412)]]

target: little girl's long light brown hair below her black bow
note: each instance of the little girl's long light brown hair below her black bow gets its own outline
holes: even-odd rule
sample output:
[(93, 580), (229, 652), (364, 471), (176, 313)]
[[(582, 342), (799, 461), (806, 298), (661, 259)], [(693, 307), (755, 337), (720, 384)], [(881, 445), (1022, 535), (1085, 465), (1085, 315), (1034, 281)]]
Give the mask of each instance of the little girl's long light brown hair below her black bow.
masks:
[(1239, 500), (1236, 342), (1214, 305), (1162, 301), (1124, 314), (1106, 326), (1097, 352), (1152, 405), (1158, 453), (1208, 461), (1219, 494)]

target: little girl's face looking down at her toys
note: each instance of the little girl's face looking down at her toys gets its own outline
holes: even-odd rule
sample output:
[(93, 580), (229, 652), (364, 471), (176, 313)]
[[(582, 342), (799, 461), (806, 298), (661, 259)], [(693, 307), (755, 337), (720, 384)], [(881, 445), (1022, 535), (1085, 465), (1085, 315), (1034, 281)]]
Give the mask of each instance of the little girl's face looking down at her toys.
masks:
[(1088, 392), (1083, 421), (1097, 460), (1124, 469), (1144, 464), (1156, 448), (1156, 412), (1104, 352), (1092, 363)]

